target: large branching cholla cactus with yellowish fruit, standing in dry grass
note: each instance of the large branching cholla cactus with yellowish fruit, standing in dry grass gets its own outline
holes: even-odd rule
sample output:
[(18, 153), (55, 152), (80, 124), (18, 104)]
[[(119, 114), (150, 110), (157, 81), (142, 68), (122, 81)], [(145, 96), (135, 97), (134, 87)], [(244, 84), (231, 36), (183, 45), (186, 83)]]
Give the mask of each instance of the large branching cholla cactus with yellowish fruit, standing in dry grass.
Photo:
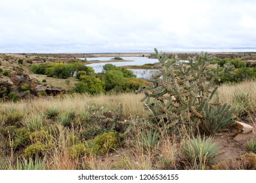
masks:
[[(168, 59), (165, 53), (160, 54), (156, 49), (155, 51), (159, 59), (155, 66), (160, 72), (153, 76), (152, 86), (140, 88), (139, 91), (143, 90), (145, 94), (142, 101), (146, 100), (145, 106), (152, 112), (158, 125), (175, 127), (187, 124), (200, 131), (200, 126), (207, 122), (209, 115), (215, 115), (212, 114), (214, 112), (207, 112), (211, 105), (209, 102), (217, 92), (215, 81), (220, 74), (219, 67), (215, 73), (207, 69), (213, 56), (202, 52), (184, 63), (176, 56)], [(219, 110), (212, 110), (211, 107), (211, 111)], [(232, 116), (232, 112), (230, 114)], [(230, 118), (230, 115), (223, 116)]]

